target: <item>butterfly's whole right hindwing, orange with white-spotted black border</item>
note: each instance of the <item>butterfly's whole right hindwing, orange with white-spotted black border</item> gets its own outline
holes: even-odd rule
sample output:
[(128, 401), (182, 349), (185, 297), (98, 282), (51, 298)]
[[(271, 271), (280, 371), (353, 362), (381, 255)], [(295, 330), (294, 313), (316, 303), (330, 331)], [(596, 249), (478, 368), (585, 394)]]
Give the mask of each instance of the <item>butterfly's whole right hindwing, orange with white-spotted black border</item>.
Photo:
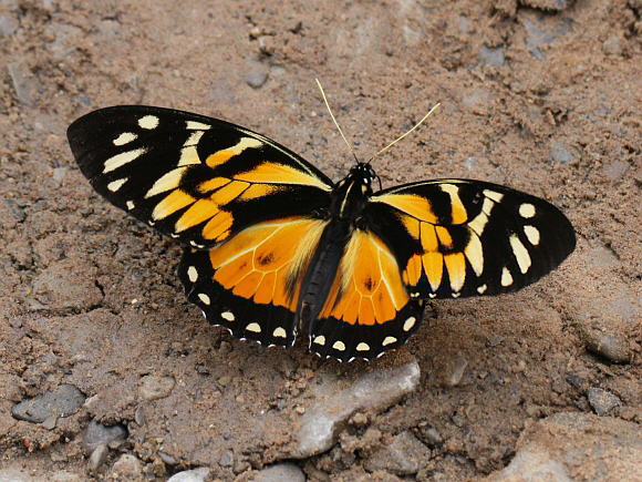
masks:
[(310, 324), (310, 349), (342, 361), (376, 358), (418, 329), (423, 309), (404, 289), (390, 248), (376, 235), (354, 229), (325, 305)]

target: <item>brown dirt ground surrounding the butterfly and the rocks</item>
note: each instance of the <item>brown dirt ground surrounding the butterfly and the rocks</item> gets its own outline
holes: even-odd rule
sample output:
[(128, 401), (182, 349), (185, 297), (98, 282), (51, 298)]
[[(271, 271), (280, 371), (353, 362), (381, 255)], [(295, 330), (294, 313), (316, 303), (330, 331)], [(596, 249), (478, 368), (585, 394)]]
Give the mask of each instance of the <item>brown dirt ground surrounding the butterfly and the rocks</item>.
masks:
[[(420, 389), (296, 461), (308, 480), (365, 473), (366, 442), (346, 440), (411, 430), (425, 442), (426, 427), (443, 443), (402, 480), (482, 480), (532, 421), (592, 412), (592, 387), (619, 398), (609, 417), (642, 423), (641, 17), (640, 0), (3, 0), (0, 466), (84, 474), (96, 420), (130, 429), (99, 479), (126, 452), (149, 480), (207, 465), (231, 481), (288, 459), (320, 368), (344, 377), (412, 359)], [(374, 162), (384, 187), (509, 185), (559, 206), (576, 252), (518, 294), (431, 304), (403, 350), (373, 363), (209, 327), (175, 275), (180, 248), (92, 191), (66, 126), (114, 104), (182, 109), (261, 132), (339, 180), (353, 160), (314, 78), (362, 160), (442, 103)], [(594, 352), (604, 336), (624, 362)], [(172, 396), (142, 403), (146, 376), (173, 377)], [(91, 402), (53, 429), (11, 418), (61, 383)], [(235, 463), (221, 463), (229, 451)]]

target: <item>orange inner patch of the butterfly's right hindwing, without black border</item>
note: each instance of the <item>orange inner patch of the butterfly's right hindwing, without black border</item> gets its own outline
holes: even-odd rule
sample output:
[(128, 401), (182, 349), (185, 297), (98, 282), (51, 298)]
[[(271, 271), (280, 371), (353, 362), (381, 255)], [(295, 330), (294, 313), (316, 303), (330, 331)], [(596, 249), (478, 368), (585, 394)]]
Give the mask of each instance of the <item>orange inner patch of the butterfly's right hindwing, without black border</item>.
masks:
[(319, 318), (381, 325), (393, 320), (408, 300), (393, 254), (376, 236), (358, 229), (348, 244)]

